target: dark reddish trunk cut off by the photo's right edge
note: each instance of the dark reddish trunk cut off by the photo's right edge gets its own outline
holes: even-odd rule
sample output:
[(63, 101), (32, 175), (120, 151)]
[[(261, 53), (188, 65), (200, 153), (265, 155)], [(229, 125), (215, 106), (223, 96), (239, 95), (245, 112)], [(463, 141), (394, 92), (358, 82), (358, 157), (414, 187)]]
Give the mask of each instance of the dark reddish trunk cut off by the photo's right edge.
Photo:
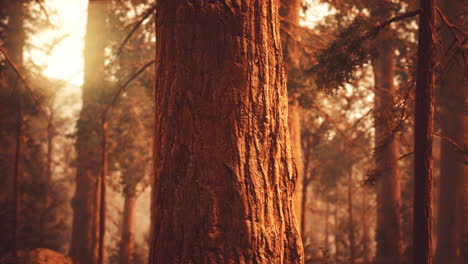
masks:
[[(465, 8), (464, 1), (441, 1), (440, 7), (450, 21), (457, 21), (456, 16)], [(455, 43), (452, 32), (442, 25), (441, 36), (445, 47)], [(451, 52), (448, 52), (451, 54)], [(444, 52), (445, 54), (445, 52)], [(444, 63), (440, 76), (439, 109), (441, 134), (450, 138), (461, 147), (466, 146), (465, 109), (466, 109), (466, 75), (462, 52)], [(466, 263), (462, 260), (463, 252), (463, 214), (466, 213), (463, 203), (464, 182), (468, 175), (462, 151), (447, 139), (442, 139), (440, 154), (439, 213), (437, 226), (436, 264)], [(465, 183), (466, 184), (466, 183)], [(458, 255), (458, 256), (457, 256)], [(457, 258), (459, 259), (457, 262)]]

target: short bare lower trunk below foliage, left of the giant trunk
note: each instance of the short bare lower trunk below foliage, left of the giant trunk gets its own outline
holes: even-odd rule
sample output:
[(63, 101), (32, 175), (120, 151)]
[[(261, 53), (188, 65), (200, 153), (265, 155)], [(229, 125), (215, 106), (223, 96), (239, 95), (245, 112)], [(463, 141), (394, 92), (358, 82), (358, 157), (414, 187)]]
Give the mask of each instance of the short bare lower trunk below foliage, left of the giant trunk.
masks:
[(125, 195), (122, 241), (120, 242), (120, 264), (132, 264), (135, 250), (135, 203), (133, 193)]

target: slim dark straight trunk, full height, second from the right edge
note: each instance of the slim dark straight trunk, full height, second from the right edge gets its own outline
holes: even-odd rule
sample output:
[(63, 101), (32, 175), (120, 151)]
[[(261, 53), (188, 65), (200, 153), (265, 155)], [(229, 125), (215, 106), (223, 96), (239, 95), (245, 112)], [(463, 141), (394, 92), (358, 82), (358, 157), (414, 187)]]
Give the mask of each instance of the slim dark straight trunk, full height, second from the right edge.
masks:
[(414, 119), (413, 263), (432, 264), (434, 0), (420, 0)]

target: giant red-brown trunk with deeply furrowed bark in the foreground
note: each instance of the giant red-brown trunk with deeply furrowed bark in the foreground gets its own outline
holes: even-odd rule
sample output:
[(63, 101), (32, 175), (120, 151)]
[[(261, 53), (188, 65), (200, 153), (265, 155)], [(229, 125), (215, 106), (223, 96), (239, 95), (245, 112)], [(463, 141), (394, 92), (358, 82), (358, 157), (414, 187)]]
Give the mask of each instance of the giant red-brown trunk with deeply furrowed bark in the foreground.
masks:
[(277, 9), (158, 3), (151, 264), (303, 263)]

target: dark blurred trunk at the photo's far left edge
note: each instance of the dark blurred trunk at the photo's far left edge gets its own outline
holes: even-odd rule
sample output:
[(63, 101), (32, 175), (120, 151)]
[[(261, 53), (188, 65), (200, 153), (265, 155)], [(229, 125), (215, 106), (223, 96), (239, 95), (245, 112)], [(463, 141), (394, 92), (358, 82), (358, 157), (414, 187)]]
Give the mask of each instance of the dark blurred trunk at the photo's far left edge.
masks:
[[(19, 69), (23, 66), (24, 4), (5, 1), (8, 24), (4, 36), (5, 50)], [(3, 55), (0, 55), (3, 57)], [(20, 83), (8, 63), (0, 69), (0, 255), (18, 246), (19, 229), (19, 164), (21, 151), (21, 115), (19, 113)]]

